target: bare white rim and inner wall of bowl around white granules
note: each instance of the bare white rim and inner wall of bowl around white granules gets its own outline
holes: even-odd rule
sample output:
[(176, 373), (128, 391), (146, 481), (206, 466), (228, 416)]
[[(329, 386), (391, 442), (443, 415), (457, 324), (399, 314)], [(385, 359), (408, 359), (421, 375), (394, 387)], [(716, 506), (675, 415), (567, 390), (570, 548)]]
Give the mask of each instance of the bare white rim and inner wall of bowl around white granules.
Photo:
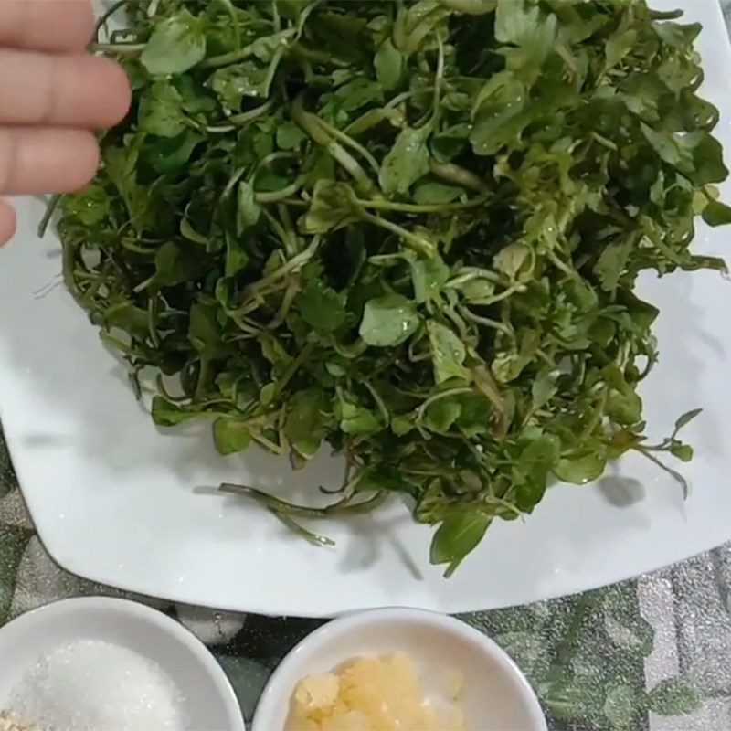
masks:
[(190, 729), (245, 731), (236, 695), (213, 655), (175, 620), (124, 599), (66, 599), (0, 629), (0, 708), (38, 659), (77, 641), (120, 645), (157, 663), (185, 703)]

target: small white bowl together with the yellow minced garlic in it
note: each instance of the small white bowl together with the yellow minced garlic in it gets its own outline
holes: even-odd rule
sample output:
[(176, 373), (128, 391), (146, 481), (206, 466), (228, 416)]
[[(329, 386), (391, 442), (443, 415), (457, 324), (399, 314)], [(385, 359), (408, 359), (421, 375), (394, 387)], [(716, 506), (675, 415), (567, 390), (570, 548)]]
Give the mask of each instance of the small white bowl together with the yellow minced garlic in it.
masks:
[(281, 662), (252, 731), (546, 731), (535, 693), (482, 632), (421, 609), (315, 630)]

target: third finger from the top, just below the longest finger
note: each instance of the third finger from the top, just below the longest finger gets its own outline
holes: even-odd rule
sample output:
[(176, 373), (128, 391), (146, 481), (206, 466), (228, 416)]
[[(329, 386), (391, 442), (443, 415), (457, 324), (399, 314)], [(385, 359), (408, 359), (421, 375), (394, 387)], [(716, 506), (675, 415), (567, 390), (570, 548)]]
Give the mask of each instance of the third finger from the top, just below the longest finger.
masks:
[(86, 185), (98, 165), (96, 138), (86, 130), (0, 127), (3, 193), (70, 193)]

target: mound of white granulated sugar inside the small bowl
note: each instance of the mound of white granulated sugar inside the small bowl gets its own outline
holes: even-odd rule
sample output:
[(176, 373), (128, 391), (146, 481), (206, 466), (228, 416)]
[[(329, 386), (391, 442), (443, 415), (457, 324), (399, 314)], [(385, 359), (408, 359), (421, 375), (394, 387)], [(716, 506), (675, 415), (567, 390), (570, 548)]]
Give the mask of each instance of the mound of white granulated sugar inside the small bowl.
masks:
[(78, 641), (41, 657), (17, 683), (10, 708), (44, 731), (177, 731), (184, 698), (172, 678), (136, 652)]

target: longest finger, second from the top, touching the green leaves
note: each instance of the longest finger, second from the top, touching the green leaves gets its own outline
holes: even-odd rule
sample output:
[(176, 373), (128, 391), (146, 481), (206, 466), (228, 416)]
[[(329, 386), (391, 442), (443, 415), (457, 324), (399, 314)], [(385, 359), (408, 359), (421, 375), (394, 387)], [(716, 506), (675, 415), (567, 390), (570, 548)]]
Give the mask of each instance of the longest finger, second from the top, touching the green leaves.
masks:
[(0, 48), (0, 123), (109, 127), (127, 113), (130, 94), (109, 58)]

